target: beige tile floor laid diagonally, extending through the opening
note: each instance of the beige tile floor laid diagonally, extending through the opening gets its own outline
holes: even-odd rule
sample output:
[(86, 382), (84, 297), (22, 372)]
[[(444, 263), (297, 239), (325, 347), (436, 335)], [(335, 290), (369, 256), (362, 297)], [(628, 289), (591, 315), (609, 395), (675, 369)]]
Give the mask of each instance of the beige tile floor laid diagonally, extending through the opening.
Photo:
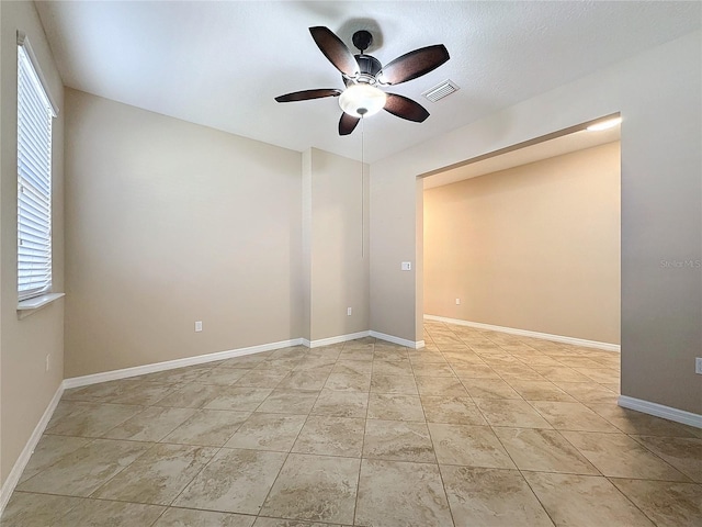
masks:
[(616, 354), (441, 323), (64, 394), (22, 526), (702, 526), (702, 430), (616, 405)]

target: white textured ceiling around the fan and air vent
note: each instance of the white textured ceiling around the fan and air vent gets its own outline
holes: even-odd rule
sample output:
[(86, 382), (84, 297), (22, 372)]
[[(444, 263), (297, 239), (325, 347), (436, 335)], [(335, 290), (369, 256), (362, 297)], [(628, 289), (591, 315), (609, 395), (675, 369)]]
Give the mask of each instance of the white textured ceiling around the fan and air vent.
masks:
[[(451, 59), (388, 91), (423, 104), (421, 124), (367, 119), (374, 161), (701, 26), (700, 2), (36, 2), (66, 86), (274, 145), (360, 158), (361, 126), (339, 137), (336, 98), (276, 103), (282, 93), (342, 88), (309, 36), (325, 25), (386, 64), (444, 44)], [(444, 79), (461, 90), (431, 103)], [(577, 124), (577, 123), (574, 123)]]

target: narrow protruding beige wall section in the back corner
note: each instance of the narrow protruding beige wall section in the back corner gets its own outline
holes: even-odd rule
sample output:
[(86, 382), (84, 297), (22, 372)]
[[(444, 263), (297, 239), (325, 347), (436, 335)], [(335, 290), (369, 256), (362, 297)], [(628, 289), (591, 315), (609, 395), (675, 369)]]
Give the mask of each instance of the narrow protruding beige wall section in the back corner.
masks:
[[(361, 164), (310, 148), (303, 176), (309, 229), (309, 340), (369, 329), (367, 172)], [(364, 178), (362, 183), (361, 178)], [(362, 249), (363, 247), (363, 249)], [(352, 309), (351, 316), (347, 309)], [(307, 337), (306, 337), (307, 338)]]

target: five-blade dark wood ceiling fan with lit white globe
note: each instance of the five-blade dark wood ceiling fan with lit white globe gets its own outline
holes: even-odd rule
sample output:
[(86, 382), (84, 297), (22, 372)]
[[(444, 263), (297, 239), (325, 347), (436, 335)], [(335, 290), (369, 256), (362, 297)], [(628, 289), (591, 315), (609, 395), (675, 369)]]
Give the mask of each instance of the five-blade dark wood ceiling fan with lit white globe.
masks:
[(415, 49), (383, 66), (378, 59), (363, 53), (373, 42), (373, 36), (365, 30), (353, 34), (353, 45), (361, 52), (358, 55), (353, 55), (328, 27), (309, 27), (309, 33), (325, 57), (341, 72), (347, 88), (295, 91), (276, 97), (278, 102), (339, 97), (339, 105), (343, 110), (339, 135), (349, 135), (361, 117), (381, 110), (417, 123), (429, 116), (429, 112), (418, 102), (397, 93), (387, 93), (378, 87), (407, 82), (437, 69), (450, 58), (443, 44)]

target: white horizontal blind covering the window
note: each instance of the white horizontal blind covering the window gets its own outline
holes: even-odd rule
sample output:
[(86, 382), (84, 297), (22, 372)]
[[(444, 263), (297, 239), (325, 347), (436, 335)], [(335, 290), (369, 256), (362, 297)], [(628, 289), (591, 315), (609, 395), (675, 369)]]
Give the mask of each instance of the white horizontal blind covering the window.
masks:
[(52, 290), (54, 110), (25, 45), (18, 46), (18, 296)]

